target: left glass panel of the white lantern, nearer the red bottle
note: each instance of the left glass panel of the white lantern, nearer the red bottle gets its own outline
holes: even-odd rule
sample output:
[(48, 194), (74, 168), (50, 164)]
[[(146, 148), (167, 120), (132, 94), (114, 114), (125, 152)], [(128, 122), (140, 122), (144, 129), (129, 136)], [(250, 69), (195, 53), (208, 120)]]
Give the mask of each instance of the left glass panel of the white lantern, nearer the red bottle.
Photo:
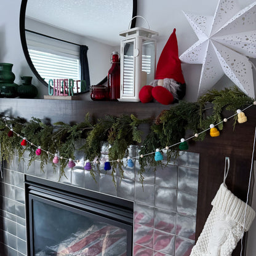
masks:
[(134, 41), (124, 42), (124, 71), (122, 94), (134, 96)]

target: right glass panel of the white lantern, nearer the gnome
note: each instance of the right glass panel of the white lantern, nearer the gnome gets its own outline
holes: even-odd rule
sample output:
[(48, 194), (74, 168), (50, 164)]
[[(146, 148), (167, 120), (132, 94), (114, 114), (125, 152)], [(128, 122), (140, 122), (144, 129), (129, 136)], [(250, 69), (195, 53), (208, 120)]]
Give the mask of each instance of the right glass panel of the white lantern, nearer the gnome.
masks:
[(142, 40), (142, 71), (146, 72), (146, 84), (154, 80), (155, 51), (154, 41)]

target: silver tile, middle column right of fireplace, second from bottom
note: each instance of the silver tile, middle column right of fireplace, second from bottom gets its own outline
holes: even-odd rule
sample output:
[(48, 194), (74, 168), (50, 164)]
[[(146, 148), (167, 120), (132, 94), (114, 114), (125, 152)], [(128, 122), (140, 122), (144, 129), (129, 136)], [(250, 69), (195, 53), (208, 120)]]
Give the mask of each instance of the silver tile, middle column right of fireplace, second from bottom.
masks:
[(154, 228), (167, 233), (175, 234), (176, 213), (167, 212), (158, 208), (154, 209)]

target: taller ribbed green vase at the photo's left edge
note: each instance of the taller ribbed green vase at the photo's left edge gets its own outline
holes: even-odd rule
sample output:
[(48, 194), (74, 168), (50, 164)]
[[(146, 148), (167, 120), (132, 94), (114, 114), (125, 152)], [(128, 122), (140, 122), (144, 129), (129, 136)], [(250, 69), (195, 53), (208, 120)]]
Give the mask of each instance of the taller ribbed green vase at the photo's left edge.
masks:
[(14, 83), (15, 74), (12, 72), (11, 63), (0, 63), (0, 97), (17, 97), (18, 85)]

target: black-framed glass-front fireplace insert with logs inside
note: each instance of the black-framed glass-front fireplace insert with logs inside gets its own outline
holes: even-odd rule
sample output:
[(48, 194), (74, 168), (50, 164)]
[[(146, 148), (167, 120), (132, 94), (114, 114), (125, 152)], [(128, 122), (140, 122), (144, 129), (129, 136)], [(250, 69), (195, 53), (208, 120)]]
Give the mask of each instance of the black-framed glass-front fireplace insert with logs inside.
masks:
[(131, 256), (134, 202), (25, 175), (28, 255)]

